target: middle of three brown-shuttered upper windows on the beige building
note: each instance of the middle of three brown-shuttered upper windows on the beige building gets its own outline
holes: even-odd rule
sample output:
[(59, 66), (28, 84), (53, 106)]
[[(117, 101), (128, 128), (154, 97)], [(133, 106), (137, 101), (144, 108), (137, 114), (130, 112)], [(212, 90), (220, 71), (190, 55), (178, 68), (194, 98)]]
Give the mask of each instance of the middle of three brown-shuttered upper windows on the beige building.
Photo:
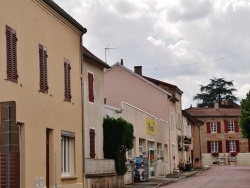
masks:
[(47, 48), (39, 44), (40, 92), (48, 93)]

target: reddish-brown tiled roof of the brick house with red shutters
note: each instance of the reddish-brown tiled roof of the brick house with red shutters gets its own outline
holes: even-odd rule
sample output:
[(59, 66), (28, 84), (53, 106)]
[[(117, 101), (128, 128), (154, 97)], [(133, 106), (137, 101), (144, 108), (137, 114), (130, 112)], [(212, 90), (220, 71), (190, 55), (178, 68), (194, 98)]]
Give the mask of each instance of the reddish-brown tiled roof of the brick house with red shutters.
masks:
[(185, 111), (192, 117), (239, 117), (240, 108), (196, 108), (190, 107)]

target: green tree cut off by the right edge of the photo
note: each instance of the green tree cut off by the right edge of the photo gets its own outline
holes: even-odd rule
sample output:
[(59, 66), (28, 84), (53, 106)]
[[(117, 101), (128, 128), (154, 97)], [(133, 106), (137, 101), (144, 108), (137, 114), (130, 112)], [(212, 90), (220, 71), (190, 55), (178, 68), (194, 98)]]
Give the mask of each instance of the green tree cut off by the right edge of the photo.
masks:
[(241, 101), (240, 127), (243, 136), (250, 140), (250, 91)]

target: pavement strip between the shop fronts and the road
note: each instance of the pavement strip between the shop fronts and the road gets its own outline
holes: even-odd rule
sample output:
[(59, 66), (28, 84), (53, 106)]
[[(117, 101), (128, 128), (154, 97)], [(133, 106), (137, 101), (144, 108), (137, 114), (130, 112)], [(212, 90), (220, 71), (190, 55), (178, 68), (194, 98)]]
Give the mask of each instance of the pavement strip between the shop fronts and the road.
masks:
[(174, 183), (180, 179), (195, 176), (197, 173), (203, 170), (207, 170), (207, 168), (183, 172), (182, 174), (176, 173), (176, 174), (169, 174), (166, 176), (155, 177), (145, 182), (140, 181), (140, 182), (135, 182), (133, 185), (126, 185), (125, 188), (159, 188), (161, 186)]

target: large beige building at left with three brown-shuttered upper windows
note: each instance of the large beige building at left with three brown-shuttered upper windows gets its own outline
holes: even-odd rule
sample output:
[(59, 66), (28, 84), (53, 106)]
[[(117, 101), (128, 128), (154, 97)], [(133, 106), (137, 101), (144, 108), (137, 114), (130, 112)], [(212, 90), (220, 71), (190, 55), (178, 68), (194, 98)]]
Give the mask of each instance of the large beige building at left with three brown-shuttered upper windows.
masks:
[(83, 187), (87, 30), (52, 0), (2, 1), (0, 28), (1, 187)]

